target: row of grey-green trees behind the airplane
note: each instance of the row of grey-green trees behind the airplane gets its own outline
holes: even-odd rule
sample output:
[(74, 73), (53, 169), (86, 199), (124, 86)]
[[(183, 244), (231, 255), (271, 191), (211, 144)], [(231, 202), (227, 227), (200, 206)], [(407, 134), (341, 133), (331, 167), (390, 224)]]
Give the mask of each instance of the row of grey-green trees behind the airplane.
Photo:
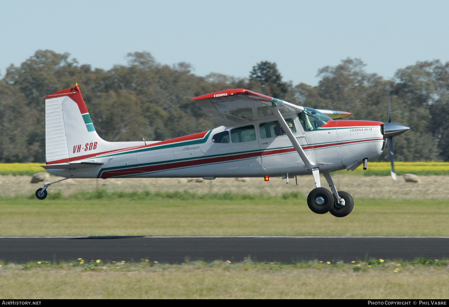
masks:
[[(282, 80), (276, 63), (261, 61), (238, 79), (194, 75), (185, 62), (162, 65), (150, 53), (128, 54), (110, 70), (79, 65), (70, 54), (38, 50), (0, 80), (0, 162), (45, 161), (45, 96), (79, 83), (98, 134), (108, 141), (166, 140), (214, 126), (192, 97), (247, 88), (312, 108), (352, 112), (351, 119), (386, 122), (388, 88), (392, 121), (410, 127), (395, 138), (400, 161), (449, 161), (449, 62), (417, 62), (391, 80), (345, 59), (318, 70), (317, 86)], [(379, 158), (387, 160), (384, 154)]]

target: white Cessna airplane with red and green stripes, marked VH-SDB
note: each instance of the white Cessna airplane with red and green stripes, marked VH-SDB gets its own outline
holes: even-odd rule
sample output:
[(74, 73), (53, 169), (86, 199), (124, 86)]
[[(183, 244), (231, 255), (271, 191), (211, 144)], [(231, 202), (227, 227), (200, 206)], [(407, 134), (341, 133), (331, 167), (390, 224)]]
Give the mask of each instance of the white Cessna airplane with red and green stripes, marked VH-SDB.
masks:
[[(312, 174), (307, 198), (318, 214), (352, 211), (349, 193), (337, 191), (330, 172), (354, 170), (380, 156), (387, 140), (394, 173), (393, 136), (408, 127), (391, 123), (336, 120), (349, 112), (314, 110), (247, 89), (193, 98), (220, 125), (164, 141), (107, 142), (95, 131), (78, 84), (45, 99), (45, 158), (49, 173), (68, 178), (264, 177)], [(322, 188), (323, 174), (332, 192)], [(62, 181), (59, 180), (59, 181)], [(56, 181), (56, 182), (59, 182)], [(46, 183), (36, 191), (44, 199)]]

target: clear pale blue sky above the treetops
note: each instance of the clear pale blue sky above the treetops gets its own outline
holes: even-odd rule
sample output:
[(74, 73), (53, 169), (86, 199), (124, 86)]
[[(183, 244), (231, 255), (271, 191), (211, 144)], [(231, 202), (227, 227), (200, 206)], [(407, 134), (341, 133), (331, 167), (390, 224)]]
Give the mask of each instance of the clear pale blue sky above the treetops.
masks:
[(317, 85), (347, 57), (390, 79), (417, 61), (449, 61), (449, 1), (0, 0), (0, 77), (36, 50), (110, 69), (147, 51), (196, 75), (248, 77), (276, 62), (283, 80)]

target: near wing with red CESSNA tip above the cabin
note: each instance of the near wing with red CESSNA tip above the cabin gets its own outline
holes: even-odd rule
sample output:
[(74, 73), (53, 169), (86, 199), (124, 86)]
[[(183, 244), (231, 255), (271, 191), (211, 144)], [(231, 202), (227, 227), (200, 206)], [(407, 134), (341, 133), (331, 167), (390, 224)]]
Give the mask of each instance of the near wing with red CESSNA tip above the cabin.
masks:
[(226, 127), (245, 121), (273, 117), (272, 107), (279, 106), (283, 115), (299, 113), (304, 108), (281, 99), (262, 95), (244, 88), (215, 92), (193, 98), (211, 116), (212, 123)]

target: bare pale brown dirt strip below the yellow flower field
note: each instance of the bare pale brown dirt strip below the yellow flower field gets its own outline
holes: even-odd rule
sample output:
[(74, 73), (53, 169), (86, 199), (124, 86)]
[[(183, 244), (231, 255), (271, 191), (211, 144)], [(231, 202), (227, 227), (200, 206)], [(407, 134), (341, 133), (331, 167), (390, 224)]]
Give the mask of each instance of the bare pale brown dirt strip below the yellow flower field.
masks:
[[(51, 181), (62, 179), (51, 176)], [(421, 183), (405, 182), (402, 176), (392, 180), (390, 176), (334, 175), (338, 190), (347, 191), (353, 197), (375, 198), (448, 198), (449, 176), (420, 176)], [(0, 195), (17, 196), (31, 195), (42, 187), (42, 183), (31, 184), (31, 176), (0, 175)], [(95, 191), (106, 189), (112, 191), (189, 191), (193, 193), (242, 193), (282, 195), (300, 191), (305, 196), (315, 187), (311, 175), (299, 176), (298, 184), (290, 179), (289, 184), (281, 178), (217, 178), (216, 180), (171, 179), (171, 178), (111, 178), (111, 179), (69, 179), (52, 185), (49, 193), (61, 191), (63, 195), (71, 195), (80, 191)], [(321, 176), (321, 185), (327, 187), (326, 180)]]

